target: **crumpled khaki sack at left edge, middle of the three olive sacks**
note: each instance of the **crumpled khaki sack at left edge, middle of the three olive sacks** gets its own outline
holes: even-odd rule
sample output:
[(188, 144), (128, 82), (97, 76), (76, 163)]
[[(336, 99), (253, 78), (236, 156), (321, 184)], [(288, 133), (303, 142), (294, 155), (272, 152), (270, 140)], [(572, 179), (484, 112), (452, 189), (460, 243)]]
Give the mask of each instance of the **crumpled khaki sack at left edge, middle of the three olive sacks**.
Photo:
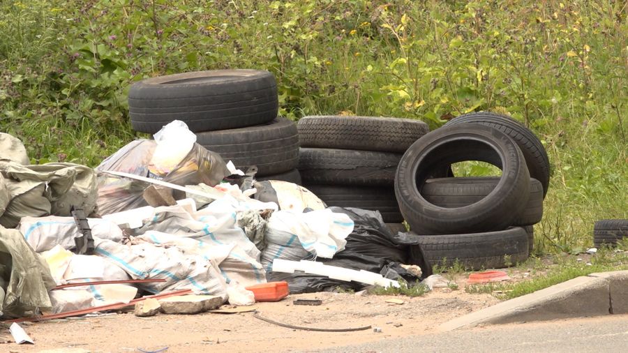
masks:
[(73, 163), (20, 165), (0, 163), (10, 202), (0, 224), (15, 227), (25, 216), (71, 216), (75, 206), (89, 214), (96, 209), (96, 173)]

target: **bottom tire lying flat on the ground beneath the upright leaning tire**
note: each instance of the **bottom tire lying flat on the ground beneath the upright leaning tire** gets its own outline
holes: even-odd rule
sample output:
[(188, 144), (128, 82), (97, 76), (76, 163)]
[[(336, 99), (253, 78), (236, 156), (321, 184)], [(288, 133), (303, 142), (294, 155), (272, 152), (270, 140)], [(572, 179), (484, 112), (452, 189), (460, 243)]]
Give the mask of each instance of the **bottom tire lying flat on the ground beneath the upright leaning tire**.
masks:
[(470, 270), (500, 269), (528, 258), (528, 233), (522, 227), (473, 234), (416, 237), (428, 262), (452, 266), (456, 261)]

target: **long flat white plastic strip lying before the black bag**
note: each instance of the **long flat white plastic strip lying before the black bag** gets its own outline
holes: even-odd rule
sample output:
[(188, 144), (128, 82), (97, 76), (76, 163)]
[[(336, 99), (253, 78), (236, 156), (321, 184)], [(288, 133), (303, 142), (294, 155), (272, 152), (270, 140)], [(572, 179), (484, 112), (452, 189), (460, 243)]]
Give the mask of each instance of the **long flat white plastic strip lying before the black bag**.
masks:
[(318, 276), (327, 276), (334, 280), (344, 280), (346, 282), (355, 281), (359, 283), (366, 283), (368, 285), (381, 285), (384, 288), (393, 286), (401, 287), (396, 280), (389, 280), (384, 278), (379, 273), (373, 273), (369, 271), (356, 271), (351, 269), (343, 269), (338, 266), (329, 266), (322, 262), (315, 261), (289, 261), (275, 259), (273, 261), (273, 272), (285, 272), (294, 273), (294, 271), (304, 271), (305, 273), (311, 273)]

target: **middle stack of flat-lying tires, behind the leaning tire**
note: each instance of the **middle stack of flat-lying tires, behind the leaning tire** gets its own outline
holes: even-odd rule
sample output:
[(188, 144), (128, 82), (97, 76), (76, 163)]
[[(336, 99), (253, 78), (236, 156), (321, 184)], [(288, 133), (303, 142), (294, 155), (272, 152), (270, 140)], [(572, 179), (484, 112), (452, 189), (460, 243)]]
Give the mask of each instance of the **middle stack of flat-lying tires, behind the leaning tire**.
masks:
[(299, 172), (328, 206), (377, 210), (403, 229), (394, 193), (403, 153), (429, 129), (423, 121), (377, 117), (303, 117)]

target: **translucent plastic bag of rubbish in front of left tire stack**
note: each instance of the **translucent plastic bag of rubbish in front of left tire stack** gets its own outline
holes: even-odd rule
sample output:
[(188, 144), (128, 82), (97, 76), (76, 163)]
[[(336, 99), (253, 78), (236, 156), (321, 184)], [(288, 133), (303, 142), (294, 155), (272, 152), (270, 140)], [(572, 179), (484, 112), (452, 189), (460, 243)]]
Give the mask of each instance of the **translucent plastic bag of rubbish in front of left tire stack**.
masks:
[[(165, 129), (165, 128), (164, 128)], [(162, 130), (163, 131), (163, 130)], [(166, 131), (167, 133), (167, 131)], [(193, 142), (181, 158), (182, 149), (177, 148), (186, 141), (135, 140), (122, 147), (96, 167), (98, 172), (98, 211), (109, 214), (147, 206), (142, 193), (149, 185), (144, 181), (130, 180), (106, 174), (107, 171), (126, 172), (160, 179), (177, 185), (197, 185), (205, 183), (216, 186), (229, 174), (225, 161), (218, 153), (207, 151)], [(174, 152), (167, 155), (168, 147)], [(185, 198), (185, 194), (173, 190), (175, 200)]]

